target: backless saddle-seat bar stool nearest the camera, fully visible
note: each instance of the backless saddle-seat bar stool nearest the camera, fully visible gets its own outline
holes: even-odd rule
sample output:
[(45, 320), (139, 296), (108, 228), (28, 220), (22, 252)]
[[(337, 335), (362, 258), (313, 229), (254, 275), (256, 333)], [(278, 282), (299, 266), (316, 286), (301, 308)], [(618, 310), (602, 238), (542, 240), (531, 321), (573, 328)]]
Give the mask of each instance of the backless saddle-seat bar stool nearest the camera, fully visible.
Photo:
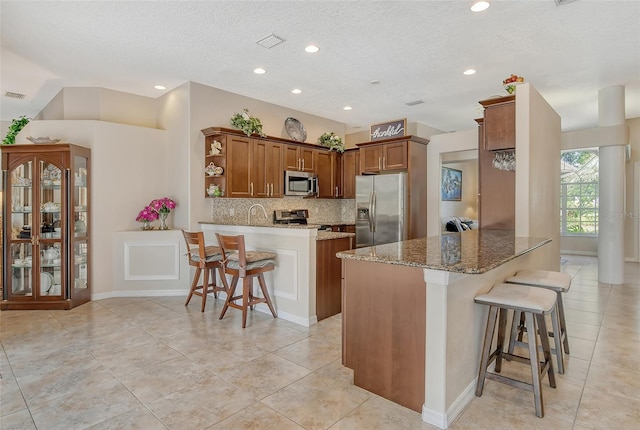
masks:
[[(556, 295), (549, 290), (542, 288), (529, 287), (515, 284), (497, 284), (487, 294), (476, 296), (475, 302), (489, 306), (489, 315), (487, 317), (487, 327), (485, 329), (484, 341), (482, 346), (482, 356), (480, 359), (480, 370), (478, 373), (478, 385), (476, 386), (476, 396), (482, 396), (485, 378), (493, 379), (513, 387), (522, 388), (533, 391), (536, 415), (540, 418), (544, 416), (544, 404), (542, 401), (542, 379), (547, 373), (549, 385), (556, 387), (553, 366), (551, 365), (551, 351), (549, 350), (549, 338), (547, 337), (547, 327), (545, 315), (555, 312)], [(508, 310), (520, 311), (524, 313), (528, 327), (538, 327), (537, 332), (540, 334), (540, 343), (542, 344), (543, 361), (540, 362), (538, 355), (538, 336), (533, 333), (532, 339), (529, 339), (529, 357), (514, 355), (504, 352), (505, 347), (505, 329), (507, 325)], [(493, 335), (498, 320), (498, 342), (496, 349), (492, 352), (491, 345), (493, 343)], [(521, 363), (527, 363), (531, 366), (532, 383), (518, 381), (500, 375), (502, 370), (502, 359), (514, 360)], [(487, 368), (495, 360), (495, 373), (488, 372)]]

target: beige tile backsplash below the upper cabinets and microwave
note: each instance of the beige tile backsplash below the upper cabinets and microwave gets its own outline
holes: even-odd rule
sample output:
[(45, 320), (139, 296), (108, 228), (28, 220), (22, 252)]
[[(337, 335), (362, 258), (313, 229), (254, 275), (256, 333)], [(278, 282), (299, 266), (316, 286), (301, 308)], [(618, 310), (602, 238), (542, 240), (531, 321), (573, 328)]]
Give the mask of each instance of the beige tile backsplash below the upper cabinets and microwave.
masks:
[[(257, 208), (251, 216), (252, 224), (271, 224), (276, 209), (309, 210), (309, 224), (353, 224), (356, 204), (353, 199), (303, 199), (301, 197), (283, 197), (281, 199), (211, 199), (211, 221), (224, 224), (246, 224), (249, 207), (259, 203), (264, 206), (268, 219)], [(231, 215), (233, 213), (233, 215)]]

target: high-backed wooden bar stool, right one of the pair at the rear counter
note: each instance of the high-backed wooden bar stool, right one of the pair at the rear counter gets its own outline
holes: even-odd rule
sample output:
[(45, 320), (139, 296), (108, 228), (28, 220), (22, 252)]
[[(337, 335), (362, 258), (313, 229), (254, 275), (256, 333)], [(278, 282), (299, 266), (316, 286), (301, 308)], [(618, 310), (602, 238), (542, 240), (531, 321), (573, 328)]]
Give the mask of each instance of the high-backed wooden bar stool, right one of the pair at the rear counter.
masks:
[[(216, 233), (218, 244), (222, 250), (222, 264), (224, 272), (232, 276), (231, 286), (227, 287), (227, 280), (223, 277), (225, 287), (227, 287), (227, 300), (220, 313), (220, 319), (224, 317), (229, 307), (242, 310), (242, 328), (247, 325), (247, 308), (251, 308), (258, 303), (266, 303), (274, 318), (278, 317), (273, 308), (267, 284), (264, 280), (264, 273), (275, 269), (276, 254), (273, 252), (246, 251), (244, 236), (223, 236)], [(238, 279), (242, 278), (242, 294), (234, 295)], [(263, 297), (253, 295), (253, 278), (258, 278), (260, 290)], [(242, 299), (242, 303), (236, 300)]]

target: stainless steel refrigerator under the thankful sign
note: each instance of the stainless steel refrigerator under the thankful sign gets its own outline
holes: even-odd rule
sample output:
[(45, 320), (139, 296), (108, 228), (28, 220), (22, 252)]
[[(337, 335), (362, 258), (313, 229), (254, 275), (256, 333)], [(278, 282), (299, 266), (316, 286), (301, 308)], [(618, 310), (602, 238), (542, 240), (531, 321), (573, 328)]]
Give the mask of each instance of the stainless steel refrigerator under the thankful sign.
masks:
[(356, 247), (408, 237), (407, 174), (356, 176)]

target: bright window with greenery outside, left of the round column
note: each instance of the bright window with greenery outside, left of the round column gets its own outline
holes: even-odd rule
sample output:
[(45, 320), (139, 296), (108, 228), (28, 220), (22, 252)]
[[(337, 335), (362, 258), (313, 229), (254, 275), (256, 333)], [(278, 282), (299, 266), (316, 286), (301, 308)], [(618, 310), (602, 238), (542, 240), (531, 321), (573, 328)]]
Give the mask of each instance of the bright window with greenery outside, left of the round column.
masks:
[(560, 156), (560, 234), (598, 235), (598, 149)]

